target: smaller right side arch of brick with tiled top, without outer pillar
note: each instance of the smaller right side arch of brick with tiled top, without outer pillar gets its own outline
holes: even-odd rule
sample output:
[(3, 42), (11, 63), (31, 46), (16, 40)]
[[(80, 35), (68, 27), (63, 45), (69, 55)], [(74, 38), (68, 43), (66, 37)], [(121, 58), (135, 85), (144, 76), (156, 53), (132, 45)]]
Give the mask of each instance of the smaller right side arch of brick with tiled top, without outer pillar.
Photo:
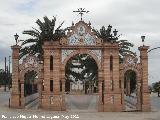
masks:
[[(133, 60), (132, 63), (129, 63), (128, 60)], [(135, 105), (134, 110), (142, 111), (142, 67), (140, 63), (137, 63), (136, 56), (126, 55), (124, 63), (121, 64), (120, 67), (120, 81), (121, 81), (121, 87), (122, 87), (122, 103), (123, 103), (123, 110), (125, 111), (125, 99), (124, 99), (124, 83), (125, 83), (125, 74), (128, 71), (133, 71), (136, 74), (136, 98), (137, 102)], [(130, 84), (130, 83), (129, 83)], [(130, 85), (129, 85), (130, 86)]]

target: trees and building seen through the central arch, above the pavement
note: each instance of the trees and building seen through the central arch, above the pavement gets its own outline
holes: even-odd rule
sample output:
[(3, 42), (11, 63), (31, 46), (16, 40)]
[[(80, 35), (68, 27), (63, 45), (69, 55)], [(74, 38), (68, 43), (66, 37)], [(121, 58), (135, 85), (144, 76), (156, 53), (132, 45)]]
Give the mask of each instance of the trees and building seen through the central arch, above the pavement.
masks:
[(65, 66), (65, 92), (93, 94), (98, 92), (98, 66), (88, 54), (77, 54)]

